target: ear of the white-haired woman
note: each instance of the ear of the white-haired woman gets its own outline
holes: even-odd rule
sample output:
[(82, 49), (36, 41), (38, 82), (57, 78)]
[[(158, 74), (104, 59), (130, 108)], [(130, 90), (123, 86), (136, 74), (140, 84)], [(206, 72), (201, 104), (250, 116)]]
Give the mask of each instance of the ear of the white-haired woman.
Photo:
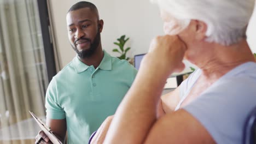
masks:
[(196, 25), (196, 40), (203, 40), (206, 37), (207, 25), (203, 21), (194, 20)]

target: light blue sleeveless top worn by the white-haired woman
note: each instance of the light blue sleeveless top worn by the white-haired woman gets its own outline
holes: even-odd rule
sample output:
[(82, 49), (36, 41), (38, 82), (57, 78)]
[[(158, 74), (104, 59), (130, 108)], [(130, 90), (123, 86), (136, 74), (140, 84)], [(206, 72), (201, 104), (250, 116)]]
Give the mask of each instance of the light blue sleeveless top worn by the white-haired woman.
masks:
[[(183, 82), (183, 97), (187, 97), (200, 74), (201, 70), (197, 70)], [(220, 77), (184, 109), (207, 129), (217, 143), (234, 144), (242, 143), (246, 118), (255, 106), (256, 63), (247, 62)]]

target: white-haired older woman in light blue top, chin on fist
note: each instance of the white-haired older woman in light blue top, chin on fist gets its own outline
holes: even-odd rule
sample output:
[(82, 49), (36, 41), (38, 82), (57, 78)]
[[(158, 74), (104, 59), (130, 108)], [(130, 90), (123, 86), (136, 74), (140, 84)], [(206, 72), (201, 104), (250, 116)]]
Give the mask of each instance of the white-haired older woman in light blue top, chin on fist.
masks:
[[(242, 143), (256, 105), (256, 63), (246, 41), (254, 0), (155, 2), (166, 35), (152, 41), (113, 120), (92, 142)], [(199, 69), (161, 97), (183, 58)]]

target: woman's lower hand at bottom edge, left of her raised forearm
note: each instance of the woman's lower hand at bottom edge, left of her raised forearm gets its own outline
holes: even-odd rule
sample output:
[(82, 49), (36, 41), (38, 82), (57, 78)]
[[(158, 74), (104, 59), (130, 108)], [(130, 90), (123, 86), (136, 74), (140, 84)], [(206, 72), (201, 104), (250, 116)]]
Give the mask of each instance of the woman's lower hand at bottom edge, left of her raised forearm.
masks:
[(114, 116), (109, 116), (105, 119), (105, 121), (101, 124), (101, 127), (98, 128), (97, 133), (94, 135), (94, 137), (91, 140), (92, 144), (101, 144), (104, 142), (104, 139), (106, 137), (106, 134), (108, 132), (108, 128), (110, 123), (112, 122)]

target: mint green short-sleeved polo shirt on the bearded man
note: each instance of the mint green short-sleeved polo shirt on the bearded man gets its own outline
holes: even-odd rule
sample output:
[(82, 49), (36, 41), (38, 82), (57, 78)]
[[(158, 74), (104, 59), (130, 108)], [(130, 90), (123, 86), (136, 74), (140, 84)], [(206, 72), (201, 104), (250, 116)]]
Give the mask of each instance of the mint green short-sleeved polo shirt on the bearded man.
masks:
[(129, 62), (105, 51), (96, 69), (75, 57), (49, 84), (46, 117), (66, 118), (68, 143), (88, 143), (104, 119), (114, 115), (136, 74)]

